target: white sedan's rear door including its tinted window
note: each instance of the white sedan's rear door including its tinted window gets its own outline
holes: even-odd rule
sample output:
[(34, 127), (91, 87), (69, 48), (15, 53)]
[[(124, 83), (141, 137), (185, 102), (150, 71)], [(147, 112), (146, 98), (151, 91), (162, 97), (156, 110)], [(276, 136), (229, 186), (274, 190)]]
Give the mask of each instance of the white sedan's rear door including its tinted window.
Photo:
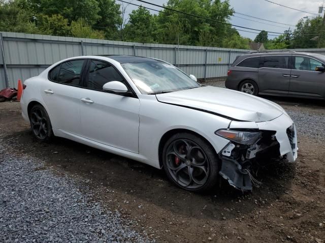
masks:
[(53, 129), (80, 133), (79, 92), (82, 90), (81, 73), (85, 63), (83, 59), (59, 64), (49, 72), (49, 80), (40, 86)]

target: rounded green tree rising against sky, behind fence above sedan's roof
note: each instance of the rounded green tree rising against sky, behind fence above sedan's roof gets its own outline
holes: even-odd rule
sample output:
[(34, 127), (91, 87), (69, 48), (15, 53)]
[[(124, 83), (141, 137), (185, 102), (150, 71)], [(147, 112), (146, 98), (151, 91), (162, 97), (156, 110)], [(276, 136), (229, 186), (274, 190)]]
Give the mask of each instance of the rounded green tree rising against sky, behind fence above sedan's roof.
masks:
[(155, 18), (149, 10), (139, 7), (129, 14), (129, 22), (125, 25), (126, 41), (152, 43), (156, 31)]

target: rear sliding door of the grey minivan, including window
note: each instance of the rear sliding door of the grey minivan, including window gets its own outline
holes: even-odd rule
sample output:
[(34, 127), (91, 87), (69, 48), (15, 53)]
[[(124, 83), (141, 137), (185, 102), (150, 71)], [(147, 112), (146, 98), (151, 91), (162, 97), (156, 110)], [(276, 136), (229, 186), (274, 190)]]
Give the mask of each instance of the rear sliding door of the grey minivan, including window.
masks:
[(264, 94), (289, 92), (291, 55), (262, 56), (258, 69), (258, 89)]

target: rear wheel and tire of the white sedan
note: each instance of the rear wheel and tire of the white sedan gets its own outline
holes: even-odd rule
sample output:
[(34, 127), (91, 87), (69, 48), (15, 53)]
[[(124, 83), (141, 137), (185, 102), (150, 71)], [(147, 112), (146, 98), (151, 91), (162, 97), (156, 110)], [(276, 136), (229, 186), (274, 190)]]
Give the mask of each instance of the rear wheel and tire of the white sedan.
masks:
[(32, 134), (37, 140), (49, 142), (53, 138), (50, 117), (42, 105), (34, 105), (29, 111), (29, 121)]

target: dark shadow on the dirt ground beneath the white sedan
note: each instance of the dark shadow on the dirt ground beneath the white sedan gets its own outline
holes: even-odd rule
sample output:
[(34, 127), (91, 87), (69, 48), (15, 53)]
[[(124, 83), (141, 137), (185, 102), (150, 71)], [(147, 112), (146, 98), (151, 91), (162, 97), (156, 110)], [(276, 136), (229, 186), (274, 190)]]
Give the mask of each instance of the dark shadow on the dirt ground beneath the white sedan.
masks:
[[(131, 195), (137, 201), (153, 204), (163, 211), (197, 219), (235, 218), (238, 212), (246, 215), (262, 205), (270, 205), (282, 194), (290, 193), (296, 170), (293, 164), (284, 163), (259, 169), (256, 179), (263, 184), (252, 193), (243, 194), (223, 181), (221, 189), (196, 194), (174, 186), (164, 170), (67, 139), (55, 138), (49, 144), (40, 143), (32, 137), (30, 130), (23, 130), (5, 137), (4, 142), (10, 144), (13, 151), (35, 156), (48, 166), (60, 168), (59, 173), (77, 174), (85, 181), (89, 180), (94, 191), (109, 188), (119, 192), (121, 198)], [(108, 192), (107, 197), (111, 197)]]

